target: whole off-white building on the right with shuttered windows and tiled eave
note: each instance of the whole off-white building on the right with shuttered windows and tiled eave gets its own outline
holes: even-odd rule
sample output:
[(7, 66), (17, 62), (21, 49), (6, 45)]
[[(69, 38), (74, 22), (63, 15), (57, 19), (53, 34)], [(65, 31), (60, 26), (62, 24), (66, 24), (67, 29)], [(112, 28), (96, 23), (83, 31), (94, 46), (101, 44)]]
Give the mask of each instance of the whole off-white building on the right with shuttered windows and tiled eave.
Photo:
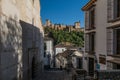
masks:
[(120, 1), (90, 0), (85, 11), (85, 63), (89, 75), (94, 70), (120, 69)]

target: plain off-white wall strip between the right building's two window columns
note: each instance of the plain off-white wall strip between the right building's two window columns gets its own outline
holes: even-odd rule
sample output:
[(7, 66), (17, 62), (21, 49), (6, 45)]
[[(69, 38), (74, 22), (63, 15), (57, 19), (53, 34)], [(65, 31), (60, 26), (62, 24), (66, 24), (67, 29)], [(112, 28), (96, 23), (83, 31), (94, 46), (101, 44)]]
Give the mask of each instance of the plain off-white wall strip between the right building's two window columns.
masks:
[[(96, 54), (106, 55), (106, 27), (107, 25), (107, 0), (98, 0), (96, 3), (95, 26), (96, 26)], [(100, 64), (100, 69), (106, 69), (106, 65)]]

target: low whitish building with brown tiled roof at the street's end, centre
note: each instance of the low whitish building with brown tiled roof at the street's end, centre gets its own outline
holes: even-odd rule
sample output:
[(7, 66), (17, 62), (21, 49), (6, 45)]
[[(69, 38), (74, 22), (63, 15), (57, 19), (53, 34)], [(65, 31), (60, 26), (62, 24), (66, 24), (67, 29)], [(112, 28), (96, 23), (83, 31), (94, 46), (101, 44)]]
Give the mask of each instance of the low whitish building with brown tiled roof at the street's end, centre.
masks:
[(57, 68), (83, 69), (83, 52), (66, 50), (56, 55)]

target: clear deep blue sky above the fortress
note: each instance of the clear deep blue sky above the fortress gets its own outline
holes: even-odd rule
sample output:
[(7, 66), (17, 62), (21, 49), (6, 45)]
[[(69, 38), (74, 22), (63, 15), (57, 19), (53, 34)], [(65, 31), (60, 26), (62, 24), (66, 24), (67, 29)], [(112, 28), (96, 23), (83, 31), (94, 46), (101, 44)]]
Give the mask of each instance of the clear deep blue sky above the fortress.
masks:
[(81, 27), (84, 27), (84, 12), (81, 8), (89, 0), (40, 0), (41, 18), (45, 24), (49, 19), (53, 24), (74, 25), (74, 22), (80, 21)]

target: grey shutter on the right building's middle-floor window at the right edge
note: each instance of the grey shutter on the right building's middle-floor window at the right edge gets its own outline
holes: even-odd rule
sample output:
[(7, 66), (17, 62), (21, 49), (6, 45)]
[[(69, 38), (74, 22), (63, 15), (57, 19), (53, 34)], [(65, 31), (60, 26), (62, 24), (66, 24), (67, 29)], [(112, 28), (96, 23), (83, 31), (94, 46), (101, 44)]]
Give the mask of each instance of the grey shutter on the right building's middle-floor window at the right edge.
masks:
[(113, 29), (107, 29), (107, 54), (113, 54)]

